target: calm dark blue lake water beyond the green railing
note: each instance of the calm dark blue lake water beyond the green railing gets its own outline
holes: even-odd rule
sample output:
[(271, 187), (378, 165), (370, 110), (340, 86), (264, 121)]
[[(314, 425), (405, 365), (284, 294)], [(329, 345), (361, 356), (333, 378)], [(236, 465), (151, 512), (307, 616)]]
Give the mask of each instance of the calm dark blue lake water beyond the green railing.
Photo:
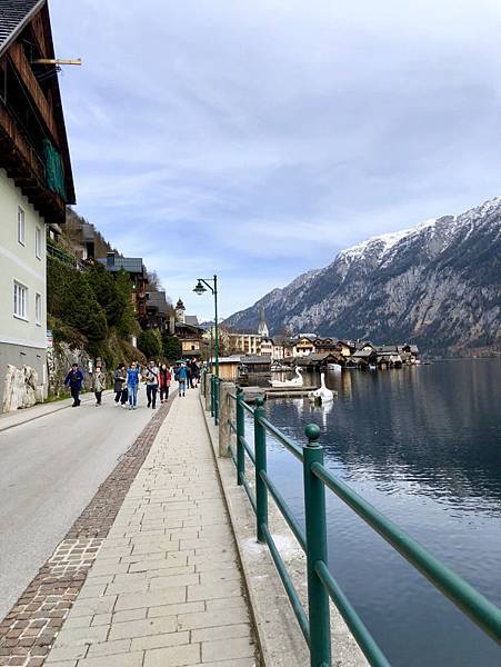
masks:
[[(501, 360), (327, 384), (339, 391), (330, 407), (272, 399), (270, 420), (301, 441), (318, 424), (332, 472), (501, 606)], [(302, 519), (300, 464), (270, 441), (269, 470)], [(494, 641), (330, 491), (328, 530), (330, 567), (392, 665), (501, 665)]]

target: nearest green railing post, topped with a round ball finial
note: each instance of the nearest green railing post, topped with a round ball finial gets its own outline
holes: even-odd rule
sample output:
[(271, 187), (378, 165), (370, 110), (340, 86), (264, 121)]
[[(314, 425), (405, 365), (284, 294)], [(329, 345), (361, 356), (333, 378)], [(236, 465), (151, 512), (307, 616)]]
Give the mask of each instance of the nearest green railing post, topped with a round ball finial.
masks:
[(309, 424), (304, 430), (308, 445), (303, 447), (304, 515), (307, 527), (308, 609), (310, 618), (310, 666), (330, 667), (331, 630), (329, 595), (317, 575), (319, 560), (327, 563), (325, 487), (311, 472), (311, 465), (323, 465), (323, 447), (319, 445), (320, 428)]

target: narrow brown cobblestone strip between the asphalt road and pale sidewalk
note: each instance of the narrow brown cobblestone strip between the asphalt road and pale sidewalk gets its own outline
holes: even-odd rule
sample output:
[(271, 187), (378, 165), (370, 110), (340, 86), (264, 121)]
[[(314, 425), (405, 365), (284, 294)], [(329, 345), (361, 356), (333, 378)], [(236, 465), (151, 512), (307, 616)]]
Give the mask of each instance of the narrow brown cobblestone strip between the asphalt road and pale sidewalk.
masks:
[(157, 411), (0, 624), (0, 665), (44, 663), (171, 405)]

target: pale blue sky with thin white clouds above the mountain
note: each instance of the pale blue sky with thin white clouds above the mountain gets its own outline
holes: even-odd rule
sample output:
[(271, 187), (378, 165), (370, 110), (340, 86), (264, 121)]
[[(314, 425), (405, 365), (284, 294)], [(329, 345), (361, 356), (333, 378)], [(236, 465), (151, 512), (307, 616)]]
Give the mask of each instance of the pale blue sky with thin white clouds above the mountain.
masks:
[(76, 209), (202, 320), (501, 195), (499, 0), (49, 6)]

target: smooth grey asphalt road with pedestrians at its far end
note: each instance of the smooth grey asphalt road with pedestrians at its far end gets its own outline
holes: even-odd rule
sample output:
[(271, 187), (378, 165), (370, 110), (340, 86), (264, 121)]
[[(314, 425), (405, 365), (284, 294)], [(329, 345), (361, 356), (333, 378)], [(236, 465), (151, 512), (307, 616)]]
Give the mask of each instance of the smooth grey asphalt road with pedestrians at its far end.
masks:
[[(144, 391), (139, 395), (144, 401)], [(0, 619), (152, 417), (113, 396), (0, 432)]]

